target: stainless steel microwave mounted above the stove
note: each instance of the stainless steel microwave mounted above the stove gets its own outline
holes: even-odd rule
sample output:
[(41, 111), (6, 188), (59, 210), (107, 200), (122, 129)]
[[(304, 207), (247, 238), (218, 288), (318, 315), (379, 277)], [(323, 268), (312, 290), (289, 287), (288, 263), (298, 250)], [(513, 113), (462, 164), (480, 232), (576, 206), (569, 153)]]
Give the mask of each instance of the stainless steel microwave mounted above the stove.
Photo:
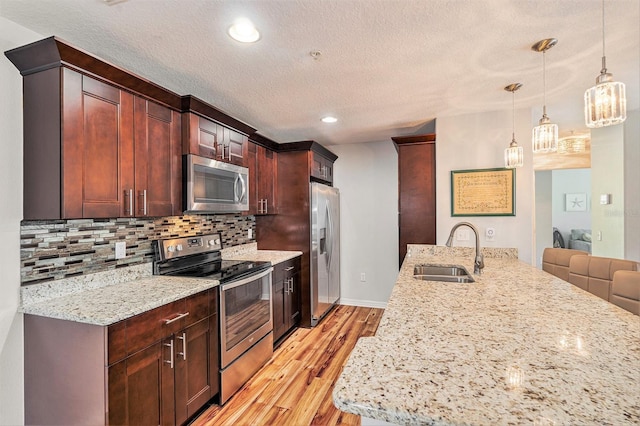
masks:
[(193, 154), (183, 156), (183, 166), (186, 213), (249, 210), (249, 169)]

